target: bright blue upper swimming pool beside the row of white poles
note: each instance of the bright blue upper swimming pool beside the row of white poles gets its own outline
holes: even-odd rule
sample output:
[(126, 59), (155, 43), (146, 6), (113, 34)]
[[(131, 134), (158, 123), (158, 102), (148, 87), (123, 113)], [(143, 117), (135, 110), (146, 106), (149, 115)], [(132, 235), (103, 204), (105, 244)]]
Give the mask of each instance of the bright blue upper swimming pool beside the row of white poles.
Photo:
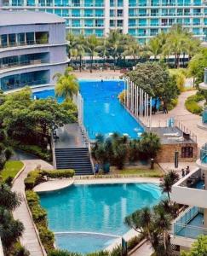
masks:
[[(83, 122), (90, 139), (97, 133), (108, 135), (112, 132), (127, 133), (129, 137), (140, 137), (143, 127), (126, 111), (118, 100), (124, 90), (123, 80), (85, 81), (80, 80), (80, 93), (83, 96)], [(54, 90), (35, 92), (35, 96), (46, 98), (55, 96)], [(62, 99), (58, 99), (62, 102)]]

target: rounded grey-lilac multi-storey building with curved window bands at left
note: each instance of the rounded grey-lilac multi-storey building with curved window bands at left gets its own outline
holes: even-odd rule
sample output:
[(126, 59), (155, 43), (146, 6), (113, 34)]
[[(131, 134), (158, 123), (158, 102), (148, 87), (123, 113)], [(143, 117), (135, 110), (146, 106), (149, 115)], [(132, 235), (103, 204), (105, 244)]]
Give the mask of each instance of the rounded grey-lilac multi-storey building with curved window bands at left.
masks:
[(25, 11), (0, 11), (0, 17), (0, 89), (54, 84), (68, 62), (65, 20)]

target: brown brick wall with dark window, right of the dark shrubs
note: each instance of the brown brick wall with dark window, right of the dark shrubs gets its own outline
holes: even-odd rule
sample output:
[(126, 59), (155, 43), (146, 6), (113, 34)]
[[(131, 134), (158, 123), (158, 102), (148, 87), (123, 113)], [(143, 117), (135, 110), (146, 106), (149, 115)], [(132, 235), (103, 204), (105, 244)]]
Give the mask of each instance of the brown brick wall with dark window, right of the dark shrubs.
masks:
[[(193, 158), (182, 158), (181, 148), (193, 147)], [(163, 144), (161, 150), (158, 152), (157, 161), (160, 163), (174, 162), (175, 151), (178, 151), (178, 160), (180, 162), (193, 162), (198, 158), (198, 145), (197, 143), (179, 143), (179, 144)]]

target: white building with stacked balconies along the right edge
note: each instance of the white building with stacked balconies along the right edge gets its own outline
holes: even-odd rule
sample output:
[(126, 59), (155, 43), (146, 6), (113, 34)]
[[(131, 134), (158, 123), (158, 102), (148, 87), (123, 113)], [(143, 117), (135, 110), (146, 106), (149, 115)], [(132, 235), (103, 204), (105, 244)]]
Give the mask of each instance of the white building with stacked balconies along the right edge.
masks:
[[(207, 69), (201, 90), (207, 90)], [(189, 249), (200, 235), (207, 235), (207, 143), (200, 148), (198, 168), (182, 177), (172, 187), (171, 199), (188, 206), (175, 219), (171, 242), (180, 249)]]

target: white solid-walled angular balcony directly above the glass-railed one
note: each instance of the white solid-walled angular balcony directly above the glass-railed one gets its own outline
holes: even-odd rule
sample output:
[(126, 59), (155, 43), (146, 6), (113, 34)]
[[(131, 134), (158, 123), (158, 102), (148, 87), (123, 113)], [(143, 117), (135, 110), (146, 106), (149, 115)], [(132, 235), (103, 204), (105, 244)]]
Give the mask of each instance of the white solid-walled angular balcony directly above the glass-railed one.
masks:
[[(207, 155), (207, 154), (206, 154)], [(200, 168), (182, 177), (172, 187), (172, 200), (177, 203), (207, 208), (207, 190), (204, 189), (204, 171)]]

